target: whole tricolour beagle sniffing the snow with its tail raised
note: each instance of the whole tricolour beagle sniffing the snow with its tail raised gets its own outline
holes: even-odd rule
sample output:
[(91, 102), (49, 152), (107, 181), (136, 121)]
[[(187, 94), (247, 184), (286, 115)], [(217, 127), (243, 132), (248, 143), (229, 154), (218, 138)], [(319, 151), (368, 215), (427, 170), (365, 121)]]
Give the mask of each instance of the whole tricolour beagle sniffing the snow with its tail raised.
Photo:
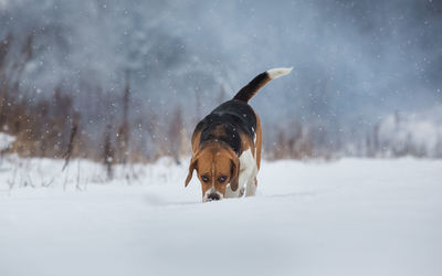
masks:
[[(273, 68), (259, 74), (230, 100), (206, 116), (192, 135), (192, 159), (186, 187), (197, 170), (202, 202), (254, 195), (261, 163), (260, 117), (248, 102), (267, 82), (292, 68)], [(246, 184), (246, 189), (244, 185)]]

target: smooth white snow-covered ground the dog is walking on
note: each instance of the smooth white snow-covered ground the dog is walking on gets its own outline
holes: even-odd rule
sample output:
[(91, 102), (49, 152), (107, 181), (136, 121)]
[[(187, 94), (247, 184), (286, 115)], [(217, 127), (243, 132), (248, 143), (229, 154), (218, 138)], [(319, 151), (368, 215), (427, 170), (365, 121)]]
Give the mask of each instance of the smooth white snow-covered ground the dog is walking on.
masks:
[(442, 161), (264, 162), (200, 203), (187, 164), (0, 163), (0, 275), (442, 275)]

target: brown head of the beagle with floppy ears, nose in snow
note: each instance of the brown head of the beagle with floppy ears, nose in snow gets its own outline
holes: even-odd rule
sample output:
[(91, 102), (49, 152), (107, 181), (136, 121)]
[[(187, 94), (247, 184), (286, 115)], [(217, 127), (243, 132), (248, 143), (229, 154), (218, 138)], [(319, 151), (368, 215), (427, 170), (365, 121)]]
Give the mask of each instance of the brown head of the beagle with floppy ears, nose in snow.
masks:
[(197, 170), (202, 188), (202, 201), (221, 200), (230, 183), (233, 191), (238, 189), (240, 161), (236, 153), (219, 141), (202, 145), (194, 153), (189, 166), (186, 187)]

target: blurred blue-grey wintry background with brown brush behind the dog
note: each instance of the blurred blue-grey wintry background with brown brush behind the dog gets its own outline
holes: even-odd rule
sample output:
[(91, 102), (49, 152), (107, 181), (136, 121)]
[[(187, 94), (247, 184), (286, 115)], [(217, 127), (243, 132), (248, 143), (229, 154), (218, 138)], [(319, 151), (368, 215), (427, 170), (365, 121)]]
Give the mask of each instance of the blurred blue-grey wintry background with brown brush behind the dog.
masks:
[(2, 153), (190, 155), (255, 75), (264, 157), (442, 157), (442, 1), (0, 0)]

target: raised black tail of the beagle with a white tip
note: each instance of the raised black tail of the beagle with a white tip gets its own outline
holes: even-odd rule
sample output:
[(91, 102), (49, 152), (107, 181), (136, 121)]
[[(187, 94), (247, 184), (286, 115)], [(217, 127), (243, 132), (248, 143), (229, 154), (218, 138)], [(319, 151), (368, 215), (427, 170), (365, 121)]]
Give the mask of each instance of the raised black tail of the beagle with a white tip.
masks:
[(293, 67), (290, 68), (272, 68), (267, 70), (264, 73), (259, 74), (255, 78), (252, 79), (248, 85), (241, 88), (233, 97), (233, 99), (239, 99), (248, 103), (256, 92), (263, 87), (266, 83), (272, 79), (278, 78), (280, 76), (285, 76), (292, 72)]

